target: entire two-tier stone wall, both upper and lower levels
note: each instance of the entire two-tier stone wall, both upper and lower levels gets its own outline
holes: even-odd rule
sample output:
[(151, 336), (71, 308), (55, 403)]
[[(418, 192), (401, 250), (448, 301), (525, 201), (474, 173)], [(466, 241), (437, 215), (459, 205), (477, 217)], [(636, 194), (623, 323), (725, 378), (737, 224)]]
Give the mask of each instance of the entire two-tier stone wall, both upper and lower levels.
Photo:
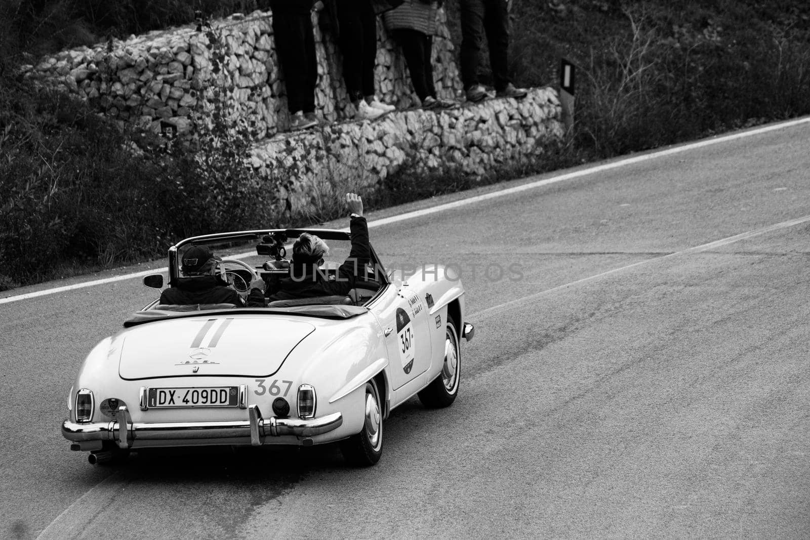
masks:
[(438, 97), (458, 100), (458, 108), (415, 109), (419, 99), (403, 56), (380, 23), (377, 94), (399, 110), (377, 121), (351, 120), (355, 110), (343, 85), (340, 52), (319, 15), (313, 12), (315, 104), (324, 124), (308, 132), (287, 132), (286, 89), (269, 12), (72, 49), (23, 70), (90, 101), (122, 125), (156, 133), (205, 130), (211, 125), (206, 119), (221, 114), (225, 125), (256, 140), (249, 164), (258, 174), (295, 176), (286, 193), (293, 209), (343, 186), (373, 189), (403, 166), (482, 176), (494, 164), (537, 155), (561, 138), (560, 105), (550, 88), (535, 89), (520, 102), (463, 104), (443, 10), (433, 74)]

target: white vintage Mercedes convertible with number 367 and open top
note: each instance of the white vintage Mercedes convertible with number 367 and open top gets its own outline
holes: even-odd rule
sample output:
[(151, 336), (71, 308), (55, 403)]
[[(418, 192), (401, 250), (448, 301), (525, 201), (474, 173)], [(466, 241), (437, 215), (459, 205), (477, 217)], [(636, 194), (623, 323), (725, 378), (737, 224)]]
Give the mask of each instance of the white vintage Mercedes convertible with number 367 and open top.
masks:
[[(169, 279), (193, 244), (224, 257), (218, 271), (247, 294), (251, 279), (289, 274), (286, 252), (302, 232), (330, 245), (327, 279), (349, 253), (347, 232), (273, 229), (196, 236), (168, 250)], [(238, 258), (237, 258), (238, 257)], [(91, 463), (130, 449), (192, 445), (339, 442), (347, 461), (382, 454), (383, 420), (417, 394), (425, 406), (458, 395), (464, 290), (450, 268), (386, 274), (372, 249), (347, 296), (282, 300), (266, 307), (151, 302), (87, 355), (67, 398), (62, 434)], [(143, 279), (163, 287), (163, 275)], [(170, 282), (171, 283), (171, 282)]]

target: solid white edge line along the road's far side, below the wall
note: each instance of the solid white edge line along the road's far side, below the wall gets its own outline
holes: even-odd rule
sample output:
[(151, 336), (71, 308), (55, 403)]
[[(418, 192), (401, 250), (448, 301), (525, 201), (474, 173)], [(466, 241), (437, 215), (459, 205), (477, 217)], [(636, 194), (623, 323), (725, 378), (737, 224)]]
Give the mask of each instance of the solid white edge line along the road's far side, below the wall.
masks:
[[(667, 150), (651, 152), (650, 154), (636, 155), (631, 158), (619, 159), (612, 163), (596, 165), (595, 167), (583, 168), (578, 171), (567, 172), (565, 174), (552, 176), (551, 178), (546, 178), (545, 180), (529, 182), (523, 185), (516, 185), (514, 188), (500, 189), (498, 191), (492, 191), (491, 193), (476, 195), (475, 197), (463, 198), (458, 201), (447, 202), (445, 204), (440, 204), (438, 206), (423, 208), (422, 210), (413, 210), (411, 212), (406, 212), (404, 214), (392, 215), (388, 218), (376, 219), (374, 221), (369, 222), (369, 228), (382, 227), (384, 225), (390, 225), (391, 223), (399, 223), (400, 221), (405, 221), (407, 219), (416, 219), (424, 215), (436, 214), (437, 212), (453, 210), (454, 208), (459, 208), (461, 206), (468, 206), (471, 204), (475, 204), (476, 202), (488, 201), (489, 199), (492, 198), (505, 197), (506, 195), (521, 193), (522, 191), (527, 191), (529, 189), (537, 189), (543, 187), (544, 185), (556, 184), (557, 182), (573, 180), (574, 178), (580, 178), (582, 176), (595, 174), (597, 172), (604, 172), (612, 170), (614, 168), (626, 167), (628, 165), (642, 163), (644, 161), (650, 161), (650, 159), (658, 159), (666, 155), (680, 154), (686, 151), (694, 150), (696, 148), (710, 147), (714, 144), (719, 144), (721, 142), (734, 141), (736, 139), (746, 137), (753, 137), (755, 135), (768, 133), (769, 131), (783, 130), (789, 127), (793, 127), (794, 125), (806, 124), (808, 122), (810, 122), (810, 117), (798, 118), (796, 120), (785, 121), (778, 124), (766, 125), (765, 127), (757, 128), (755, 130), (724, 135), (723, 137), (708, 138), (702, 141), (684, 144), (683, 146), (680, 147), (667, 148)], [(250, 255), (253, 254), (254, 254), (253, 252), (238, 253), (237, 255), (233, 255), (230, 258), (244, 258), (249, 257)], [(165, 272), (166, 270), (163, 271)], [(147, 270), (144, 272), (138, 272), (136, 274), (126, 274), (116, 276), (114, 278), (96, 279), (95, 281), (88, 281), (86, 283), (75, 283), (74, 285), (66, 285), (64, 287), (56, 287), (53, 289), (45, 289), (43, 291), (28, 292), (23, 295), (8, 296), (6, 298), (0, 298), (0, 304), (8, 304), (9, 302), (16, 302), (18, 300), (28, 300), (29, 298), (36, 298), (37, 296), (53, 295), (59, 292), (74, 291), (75, 289), (81, 289), (84, 287), (95, 287), (96, 285), (104, 285), (106, 283), (113, 283), (116, 281), (122, 281), (124, 279), (139, 278), (147, 274), (156, 274), (158, 272), (160, 272), (160, 270)]]

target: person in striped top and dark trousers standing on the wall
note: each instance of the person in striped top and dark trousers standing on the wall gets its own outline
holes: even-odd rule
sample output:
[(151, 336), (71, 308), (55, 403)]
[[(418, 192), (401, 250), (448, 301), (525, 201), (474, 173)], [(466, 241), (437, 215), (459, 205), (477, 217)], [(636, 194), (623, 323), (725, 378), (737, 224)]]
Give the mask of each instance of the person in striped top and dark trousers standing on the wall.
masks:
[(431, 52), (441, 2), (443, 0), (405, 0), (400, 6), (382, 14), (386, 30), (403, 49), (411, 83), (422, 102), (422, 108), (447, 108), (455, 104), (439, 100), (433, 85)]

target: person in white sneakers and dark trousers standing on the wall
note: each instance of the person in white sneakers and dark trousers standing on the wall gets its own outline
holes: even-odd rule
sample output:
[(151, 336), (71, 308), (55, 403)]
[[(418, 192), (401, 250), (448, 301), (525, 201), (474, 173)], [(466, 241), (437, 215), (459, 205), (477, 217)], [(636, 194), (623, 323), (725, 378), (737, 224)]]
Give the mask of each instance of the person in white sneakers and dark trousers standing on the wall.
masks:
[(358, 120), (373, 120), (394, 110), (377, 100), (374, 65), (377, 62), (377, 10), (399, 5), (398, 0), (328, 0), (340, 52), (343, 53), (343, 80)]

